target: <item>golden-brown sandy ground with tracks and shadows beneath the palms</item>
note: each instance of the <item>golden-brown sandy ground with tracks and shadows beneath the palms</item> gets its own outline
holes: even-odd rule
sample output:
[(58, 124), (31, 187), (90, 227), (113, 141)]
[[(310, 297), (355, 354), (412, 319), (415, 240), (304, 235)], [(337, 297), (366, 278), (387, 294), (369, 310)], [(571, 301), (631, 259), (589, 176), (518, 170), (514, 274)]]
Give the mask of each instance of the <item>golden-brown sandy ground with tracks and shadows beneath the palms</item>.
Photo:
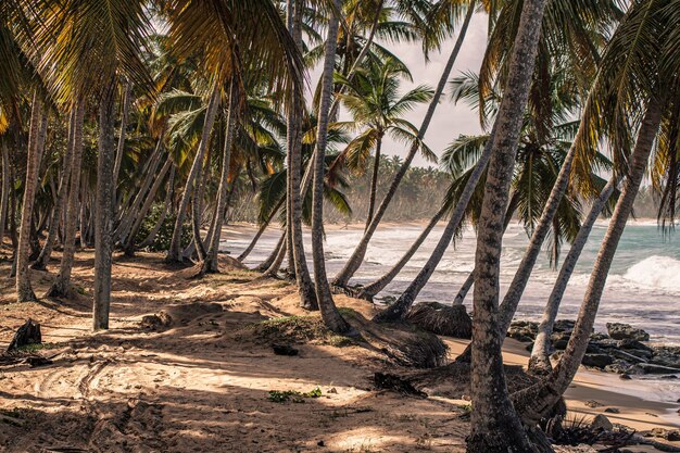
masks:
[[(59, 257), (50, 272), (34, 273), (37, 293), (48, 288)], [(304, 314), (288, 284), (236, 266), (197, 280), (190, 269), (166, 267), (160, 254), (116, 254), (111, 329), (91, 334), (92, 259), (90, 251), (77, 255), (77, 300), (27, 304), (13, 303), (9, 263), (0, 265), (0, 348), (32, 317), (50, 343), (40, 354), (54, 361), (0, 366), (0, 451), (465, 451), (466, 401), (376, 391), (375, 372), (410, 372), (380, 351), (312, 341), (297, 345), (299, 356), (278, 356), (267, 341), (243, 334), (253, 323)], [(367, 317), (375, 313), (347, 297), (337, 303)], [(163, 310), (172, 326), (140, 326), (144, 315)], [(466, 344), (445, 341), (453, 354)], [(527, 354), (520, 343), (506, 342), (508, 363), (525, 364)], [(569, 408), (592, 416), (614, 406), (620, 413), (607, 416), (635, 429), (678, 426), (678, 414), (675, 420), (668, 415), (672, 407), (629, 397), (618, 391), (624, 385), (579, 373)], [(272, 390), (316, 388), (320, 398), (304, 403), (269, 400)], [(590, 400), (603, 405), (588, 407)]]

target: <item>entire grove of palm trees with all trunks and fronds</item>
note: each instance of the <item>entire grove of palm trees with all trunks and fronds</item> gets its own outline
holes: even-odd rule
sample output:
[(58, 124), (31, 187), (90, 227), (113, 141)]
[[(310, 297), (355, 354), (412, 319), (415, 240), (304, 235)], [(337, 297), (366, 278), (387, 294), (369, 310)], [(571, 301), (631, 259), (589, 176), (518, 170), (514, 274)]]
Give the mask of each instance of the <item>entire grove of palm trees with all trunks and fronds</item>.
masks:
[[(454, 73), (475, 14), (488, 17), (483, 61)], [(400, 61), (406, 42), (446, 55), (437, 86)], [(431, 121), (450, 102), (473, 109), (481, 133), (431, 149)], [(416, 109), (425, 114), (414, 123)], [(221, 272), (226, 223), (251, 219), (259, 231), (238, 260), (265, 229), (280, 231), (257, 269), (293, 281), (301, 306), (352, 337), (333, 294), (370, 300), (440, 231), (415, 279), (372, 320), (405, 322), (471, 225), (475, 270), (451, 294), (459, 304), (474, 288), (471, 343), (456, 358), (470, 363), (468, 452), (551, 451), (541, 424), (585, 354), (641, 188), (660, 227), (678, 219), (679, 131), (680, 0), (0, 3), (0, 237), (17, 302), (74, 297), (74, 256), (93, 248), (92, 328), (108, 329), (114, 256), (162, 252), (167, 266), (193, 266), (200, 286)], [(432, 167), (413, 166), (416, 156)], [(602, 216), (574, 334), (551, 364), (545, 339), (569, 269)], [(410, 218), (426, 223), (406, 254), (354, 285), (381, 222)], [(530, 239), (501, 298), (511, 218)], [(324, 224), (350, 221), (362, 238), (327, 275)], [(50, 262), (54, 250), (61, 260)], [(545, 250), (564, 267), (531, 355), (540, 379), (509, 393), (501, 347)], [(37, 294), (32, 269), (48, 265), (53, 282)]]

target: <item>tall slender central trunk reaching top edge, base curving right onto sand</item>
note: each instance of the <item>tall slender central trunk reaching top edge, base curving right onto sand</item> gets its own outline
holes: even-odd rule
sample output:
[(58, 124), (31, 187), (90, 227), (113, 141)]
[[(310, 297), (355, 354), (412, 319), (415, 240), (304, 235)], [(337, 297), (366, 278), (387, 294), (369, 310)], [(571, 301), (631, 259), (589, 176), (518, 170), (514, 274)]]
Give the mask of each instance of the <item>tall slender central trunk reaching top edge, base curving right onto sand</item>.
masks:
[(314, 259), (314, 282), (316, 300), (322, 312), (324, 324), (337, 334), (350, 331), (351, 326), (342, 318), (336, 307), (326, 277), (324, 261), (324, 177), (326, 161), (326, 141), (328, 139), (328, 111), (332, 95), (332, 72), (336, 62), (336, 47), (338, 43), (339, 17), (341, 0), (333, 1), (336, 11), (330, 13), (328, 22), (328, 37), (326, 38), (324, 55), (324, 73), (322, 76), (322, 97), (318, 108), (318, 124), (316, 126), (316, 152), (314, 153), (314, 185), (312, 192), (312, 255)]

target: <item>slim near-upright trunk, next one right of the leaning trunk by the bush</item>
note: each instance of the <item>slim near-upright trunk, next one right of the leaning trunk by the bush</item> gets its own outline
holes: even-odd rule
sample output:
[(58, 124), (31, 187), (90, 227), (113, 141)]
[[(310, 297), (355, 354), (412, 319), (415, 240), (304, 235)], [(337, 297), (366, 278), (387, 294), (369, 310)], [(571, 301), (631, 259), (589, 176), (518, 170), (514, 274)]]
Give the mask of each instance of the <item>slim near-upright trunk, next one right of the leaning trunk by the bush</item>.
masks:
[[(224, 223), (224, 211), (227, 205), (227, 197), (229, 189), (229, 167), (231, 163), (231, 143), (234, 142), (234, 134), (238, 122), (239, 93), (237, 80), (231, 80), (229, 90), (229, 112), (227, 114), (227, 131), (225, 134), (224, 150), (222, 153), (222, 175), (219, 178), (219, 188), (217, 189), (217, 205), (215, 206), (215, 215), (213, 216), (213, 231), (209, 235), (210, 242), (207, 253), (201, 266), (201, 274), (217, 273), (217, 253), (219, 252), (219, 238), (222, 237), (222, 225)], [(232, 183), (236, 184), (236, 180)]]

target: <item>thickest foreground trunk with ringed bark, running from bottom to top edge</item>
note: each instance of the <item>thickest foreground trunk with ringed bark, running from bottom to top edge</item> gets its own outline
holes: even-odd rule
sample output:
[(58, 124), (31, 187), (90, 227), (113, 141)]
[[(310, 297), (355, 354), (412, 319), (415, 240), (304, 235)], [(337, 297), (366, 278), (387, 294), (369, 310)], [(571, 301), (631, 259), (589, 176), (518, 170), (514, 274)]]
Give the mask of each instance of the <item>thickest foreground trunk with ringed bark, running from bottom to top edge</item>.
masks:
[[(546, 0), (525, 0), (509, 61), (509, 72), (501, 108), (490, 140), (493, 156), (489, 163), (484, 199), (478, 224), (475, 259), (473, 319), (473, 366), (470, 394), (471, 432), (469, 453), (534, 451), (509, 400), (499, 330), (499, 281), (503, 248), (504, 215), (517, 143), (536, 65), (539, 36)], [(531, 427), (529, 427), (531, 429)]]

